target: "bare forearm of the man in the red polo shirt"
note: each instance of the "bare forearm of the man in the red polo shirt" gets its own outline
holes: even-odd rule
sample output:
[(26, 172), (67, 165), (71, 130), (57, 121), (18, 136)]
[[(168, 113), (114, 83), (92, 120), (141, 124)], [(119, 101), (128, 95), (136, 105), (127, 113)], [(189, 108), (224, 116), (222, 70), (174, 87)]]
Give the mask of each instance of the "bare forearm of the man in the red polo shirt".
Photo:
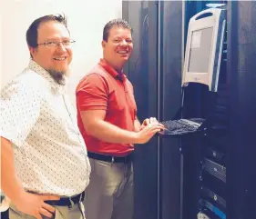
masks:
[(138, 134), (121, 129), (106, 121), (97, 121), (87, 129), (88, 134), (108, 143), (138, 144)]

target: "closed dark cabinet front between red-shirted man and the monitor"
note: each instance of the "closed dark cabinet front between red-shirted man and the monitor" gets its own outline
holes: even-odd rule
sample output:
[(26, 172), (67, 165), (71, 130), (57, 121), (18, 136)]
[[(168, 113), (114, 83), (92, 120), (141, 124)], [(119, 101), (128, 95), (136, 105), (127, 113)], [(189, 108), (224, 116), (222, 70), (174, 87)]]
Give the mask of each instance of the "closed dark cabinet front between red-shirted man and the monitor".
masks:
[[(182, 2), (125, 1), (123, 17), (134, 28), (134, 53), (125, 70), (138, 117), (170, 119), (181, 97)], [(179, 142), (156, 136), (136, 145), (135, 157), (135, 219), (179, 218)]]

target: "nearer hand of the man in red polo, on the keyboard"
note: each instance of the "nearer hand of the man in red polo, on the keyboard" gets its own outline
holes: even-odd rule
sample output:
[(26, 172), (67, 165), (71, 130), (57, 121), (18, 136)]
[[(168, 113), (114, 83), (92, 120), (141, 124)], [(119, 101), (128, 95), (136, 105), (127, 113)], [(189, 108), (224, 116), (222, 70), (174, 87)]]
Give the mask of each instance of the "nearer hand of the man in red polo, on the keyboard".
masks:
[(163, 124), (159, 124), (159, 122), (152, 121), (152, 123), (147, 124), (142, 130), (140, 130), (137, 134), (137, 144), (145, 144), (147, 143), (154, 134), (161, 132), (165, 129)]

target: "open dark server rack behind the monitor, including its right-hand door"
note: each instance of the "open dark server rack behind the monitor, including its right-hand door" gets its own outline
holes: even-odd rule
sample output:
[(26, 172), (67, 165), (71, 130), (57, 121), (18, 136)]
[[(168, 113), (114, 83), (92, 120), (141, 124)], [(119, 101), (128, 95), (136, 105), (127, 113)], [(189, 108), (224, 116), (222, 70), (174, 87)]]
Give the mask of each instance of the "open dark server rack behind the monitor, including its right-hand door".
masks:
[[(209, 3), (188, 2), (190, 15)], [(222, 3), (226, 4), (227, 32), (219, 91), (213, 101), (213, 130), (203, 138), (182, 143), (183, 219), (196, 218), (199, 213), (218, 219), (256, 218), (256, 2)], [(203, 93), (202, 89), (194, 89), (189, 100), (195, 98), (201, 100), (199, 105), (204, 105), (207, 101), (200, 96)], [(199, 112), (199, 108), (194, 110)]]

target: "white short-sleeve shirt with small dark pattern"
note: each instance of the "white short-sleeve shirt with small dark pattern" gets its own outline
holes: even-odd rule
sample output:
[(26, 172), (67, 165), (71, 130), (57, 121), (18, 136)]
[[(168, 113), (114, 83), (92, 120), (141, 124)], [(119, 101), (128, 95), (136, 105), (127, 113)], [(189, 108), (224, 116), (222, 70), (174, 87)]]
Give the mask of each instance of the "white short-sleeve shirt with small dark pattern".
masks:
[(65, 86), (36, 62), (2, 89), (0, 118), (0, 135), (13, 144), (15, 172), (26, 190), (63, 196), (85, 190), (90, 164), (76, 110)]

